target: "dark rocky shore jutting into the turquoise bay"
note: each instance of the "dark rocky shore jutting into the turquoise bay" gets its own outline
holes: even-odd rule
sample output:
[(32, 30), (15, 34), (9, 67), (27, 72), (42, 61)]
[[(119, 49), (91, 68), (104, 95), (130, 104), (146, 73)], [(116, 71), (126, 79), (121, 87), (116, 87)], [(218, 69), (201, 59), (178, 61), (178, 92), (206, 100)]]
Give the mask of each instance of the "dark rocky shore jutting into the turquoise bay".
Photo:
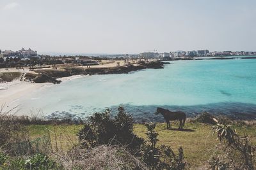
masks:
[(37, 69), (34, 73), (24, 74), (23, 79), (33, 81), (35, 83), (61, 83), (57, 78), (74, 76), (78, 74), (93, 75), (93, 74), (124, 74), (131, 71), (138, 71), (141, 69), (163, 69), (164, 64), (169, 62), (161, 62), (159, 60), (150, 62), (138, 62), (138, 64), (129, 64), (127, 66), (116, 67), (65, 67), (61, 70), (56, 69)]

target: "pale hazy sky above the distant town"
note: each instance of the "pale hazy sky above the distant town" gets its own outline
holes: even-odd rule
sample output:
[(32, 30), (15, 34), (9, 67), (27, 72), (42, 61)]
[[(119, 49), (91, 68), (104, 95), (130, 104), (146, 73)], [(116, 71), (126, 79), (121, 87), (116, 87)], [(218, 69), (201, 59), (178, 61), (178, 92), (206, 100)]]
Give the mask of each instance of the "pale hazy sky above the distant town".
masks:
[(255, 0), (0, 0), (0, 49), (256, 51)]

